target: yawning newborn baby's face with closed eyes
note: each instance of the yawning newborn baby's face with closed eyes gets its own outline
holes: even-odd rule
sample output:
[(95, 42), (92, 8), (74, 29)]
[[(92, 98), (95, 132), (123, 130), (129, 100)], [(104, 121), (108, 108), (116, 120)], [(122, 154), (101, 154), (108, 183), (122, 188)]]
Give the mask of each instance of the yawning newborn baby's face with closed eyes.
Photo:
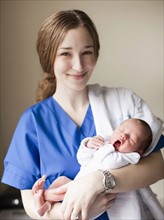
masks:
[(111, 144), (122, 153), (138, 152), (142, 134), (140, 123), (136, 119), (128, 119), (114, 131)]

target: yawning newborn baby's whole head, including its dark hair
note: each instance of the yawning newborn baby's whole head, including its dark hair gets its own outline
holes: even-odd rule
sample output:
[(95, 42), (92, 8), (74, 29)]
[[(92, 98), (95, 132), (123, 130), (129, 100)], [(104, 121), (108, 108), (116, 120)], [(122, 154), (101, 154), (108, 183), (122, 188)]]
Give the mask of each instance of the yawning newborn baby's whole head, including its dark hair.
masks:
[(152, 131), (144, 120), (131, 118), (123, 121), (111, 136), (111, 144), (122, 153), (142, 155), (152, 142)]

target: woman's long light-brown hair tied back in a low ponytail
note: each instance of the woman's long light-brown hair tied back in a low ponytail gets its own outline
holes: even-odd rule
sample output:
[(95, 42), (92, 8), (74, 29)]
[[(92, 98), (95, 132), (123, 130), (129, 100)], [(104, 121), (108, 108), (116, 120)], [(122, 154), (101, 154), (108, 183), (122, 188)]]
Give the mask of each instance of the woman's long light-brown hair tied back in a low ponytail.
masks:
[(53, 95), (56, 90), (54, 61), (59, 45), (67, 32), (78, 27), (85, 27), (91, 35), (95, 58), (99, 56), (99, 36), (90, 17), (80, 10), (60, 11), (52, 14), (42, 24), (37, 39), (37, 52), (43, 69), (43, 79), (39, 82), (36, 102)]

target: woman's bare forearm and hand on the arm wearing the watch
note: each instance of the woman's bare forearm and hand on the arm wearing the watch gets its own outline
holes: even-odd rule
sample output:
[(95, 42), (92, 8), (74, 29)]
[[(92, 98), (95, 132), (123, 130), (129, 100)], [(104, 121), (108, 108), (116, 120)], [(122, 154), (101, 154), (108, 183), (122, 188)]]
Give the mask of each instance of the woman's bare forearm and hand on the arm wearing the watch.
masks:
[[(112, 192), (125, 192), (151, 185), (164, 178), (163, 168), (163, 158), (161, 152), (158, 151), (142, 158), (136, 165), (111, 170), (116, 180), (116, 187)], [(61, 206), (64, 219), (71, 219), (79, 213), (82, 219), (93, 217), (93, 203), (104, 190), (102, 183), (103, 175), (100, 171), (95, 171), (77, 181), (73, 181), (67, 188)]]

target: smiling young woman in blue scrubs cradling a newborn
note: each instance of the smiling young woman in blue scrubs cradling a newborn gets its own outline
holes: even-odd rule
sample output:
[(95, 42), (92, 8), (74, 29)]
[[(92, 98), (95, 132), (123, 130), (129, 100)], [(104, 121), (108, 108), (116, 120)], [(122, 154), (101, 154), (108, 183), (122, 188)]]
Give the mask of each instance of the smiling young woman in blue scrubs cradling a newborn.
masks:
[[(45, 174), (45, 196), (57, 201), (56, 193), (48, 187), (63, 175), (74, 179), (80, 168), (76, 153), (85, 137), (103, 135), (109, 129), (112, 133), (123, 120), (132, 117), (142, 118), (152, 129), (153, 142), (148, 153), (161, 136), (161, 121), (132, 91), (87, 85), (99, 49), (96, 28), (80, 10), (52, 14), (39, 30), (37, 51), (44, 78), (38, 87), (38, 103), (24, 112), (17, 125), (2, 177), (3, 183), (21, 190), (24, 208), (31, 218), (42, 218), (30, 202), (33, 184)], [(162, 179), (162, 168), (158, 150), (135, 166), (111, 173), (95, 171), (63, 188), (63, 202), (55, 202), (44, 219), (94, 218), (112, 206), (115, 193)], [(115, 181), (113, 189), (103, 182), (109, 177)], [(107, 218), (101, 215), (99, 219)]]

